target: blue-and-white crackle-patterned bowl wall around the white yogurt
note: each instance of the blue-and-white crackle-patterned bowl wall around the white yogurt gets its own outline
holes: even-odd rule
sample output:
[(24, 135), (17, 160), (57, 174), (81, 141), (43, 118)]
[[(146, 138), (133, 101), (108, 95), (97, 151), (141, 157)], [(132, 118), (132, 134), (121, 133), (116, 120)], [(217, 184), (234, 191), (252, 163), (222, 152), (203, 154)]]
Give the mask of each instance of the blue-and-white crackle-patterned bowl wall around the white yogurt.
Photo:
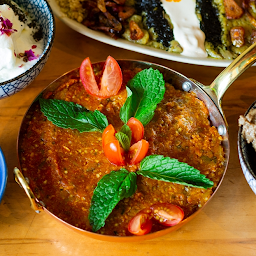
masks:
[(0, 83), (0, 99), (11, 96), (27, 87), (43, 69), (55, 36), (55, 21), (51, 7), (46, 0), (16, 0), (30, 15), (36, 18), (43, 30), (44, 51), (38, 61), (21, 75)]

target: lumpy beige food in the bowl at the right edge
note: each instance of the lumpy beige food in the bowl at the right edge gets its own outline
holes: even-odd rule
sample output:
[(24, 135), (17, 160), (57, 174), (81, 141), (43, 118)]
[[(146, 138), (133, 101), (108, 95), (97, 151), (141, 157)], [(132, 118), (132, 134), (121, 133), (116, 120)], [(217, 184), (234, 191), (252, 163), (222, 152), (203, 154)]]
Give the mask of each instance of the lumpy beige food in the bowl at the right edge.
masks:
[(252, 108), (245, 117), (240, 116), (238, 122), (239, 126), (243, 126), (243, 138), (247, 143), (252, 143), (256, 151), (256, 108)]

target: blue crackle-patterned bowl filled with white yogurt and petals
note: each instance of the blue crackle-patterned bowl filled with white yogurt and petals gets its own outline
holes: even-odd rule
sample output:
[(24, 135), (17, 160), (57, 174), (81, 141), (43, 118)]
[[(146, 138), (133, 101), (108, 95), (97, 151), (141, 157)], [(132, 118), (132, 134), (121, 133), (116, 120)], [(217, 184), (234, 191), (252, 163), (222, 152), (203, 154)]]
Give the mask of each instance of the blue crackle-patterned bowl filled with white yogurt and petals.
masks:
[(55, 28), (45, 0), (1, 0), (0, 6), (0, 98), (4, 98), (25, 88), (41, 72)]

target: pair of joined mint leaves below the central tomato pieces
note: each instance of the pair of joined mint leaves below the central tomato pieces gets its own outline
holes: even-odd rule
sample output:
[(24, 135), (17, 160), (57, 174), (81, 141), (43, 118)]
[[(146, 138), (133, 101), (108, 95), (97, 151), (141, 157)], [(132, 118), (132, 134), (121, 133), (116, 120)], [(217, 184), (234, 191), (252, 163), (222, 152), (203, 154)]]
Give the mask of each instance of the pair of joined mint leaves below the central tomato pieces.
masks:
[(93, 231), (98, 231), (105, 225), (107, 217), (119, 201), (135, 193), (137, 175), (204, 189), (214, 185), (199, 170), (177, 159), (161, 155), (147, 156), (141, 161), (136, 173), (120, 169), (106, 174), (98, 182), (89, 212)]

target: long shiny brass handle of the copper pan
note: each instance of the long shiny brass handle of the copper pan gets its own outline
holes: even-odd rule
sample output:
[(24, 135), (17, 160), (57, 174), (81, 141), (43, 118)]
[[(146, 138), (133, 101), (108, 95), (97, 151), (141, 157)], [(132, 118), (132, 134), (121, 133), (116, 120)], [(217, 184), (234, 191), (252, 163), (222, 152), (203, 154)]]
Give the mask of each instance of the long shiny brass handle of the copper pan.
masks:
[[(225, 68), (211, 83), (205, 86), (210, 94), (215, 94), (215, 104), (221, 109), (221, 99), (229, 86), (249, 67), (256, 62), (256, 43), (240, 54), (227, 68)], [(223, 113), (222, 113), (223, 114)]]

